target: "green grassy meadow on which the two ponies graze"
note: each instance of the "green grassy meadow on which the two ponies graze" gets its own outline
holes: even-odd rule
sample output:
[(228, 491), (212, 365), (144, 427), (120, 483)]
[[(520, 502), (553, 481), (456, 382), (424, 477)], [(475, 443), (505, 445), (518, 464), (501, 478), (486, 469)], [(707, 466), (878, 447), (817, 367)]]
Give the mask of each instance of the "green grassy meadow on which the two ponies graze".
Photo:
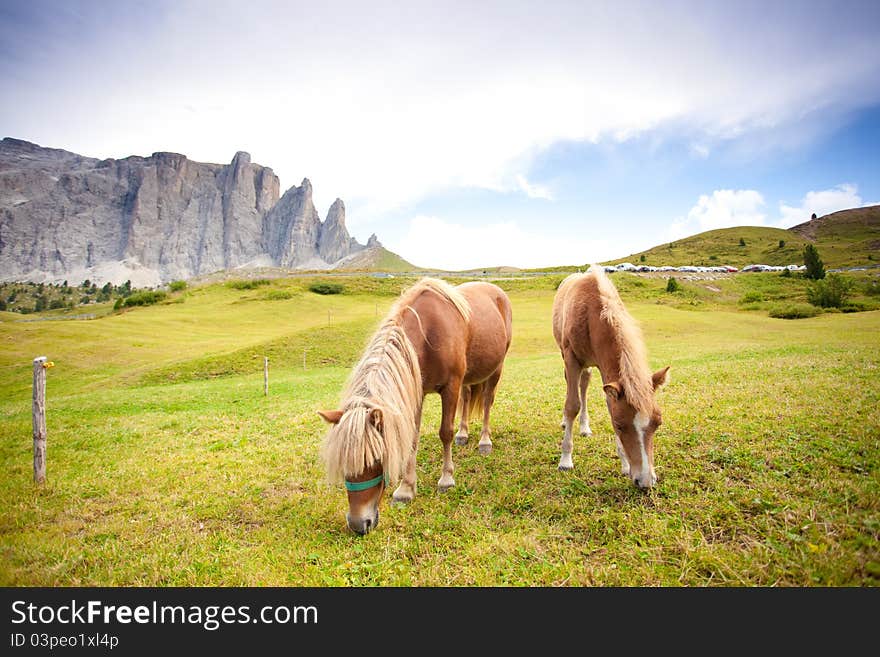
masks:
[[(869, 274), (866, 274), (868, 276)], [(876, 276), (876, 274), (870, 274)], [(877, 586), (880, 310), (775, 319), (806, 283), (777, 274), (615, 274), (660, 393), (657, 486), (620, 474), (601, 386), (594, 435), (559, 472), (561, 276), (499, 280), (514, 339), (494, 450), (453, 446), (436, 490), (429, 395), (419, 491), (364, 537), (319, 458), (317, 409), (414, 279), (213, 284), (92, 320), (0, 313), (0, 585)], [(31, 361), (47, 356), (48, 480), (32, 480)], [(270, 359), (263, 394), (263, 357)]]

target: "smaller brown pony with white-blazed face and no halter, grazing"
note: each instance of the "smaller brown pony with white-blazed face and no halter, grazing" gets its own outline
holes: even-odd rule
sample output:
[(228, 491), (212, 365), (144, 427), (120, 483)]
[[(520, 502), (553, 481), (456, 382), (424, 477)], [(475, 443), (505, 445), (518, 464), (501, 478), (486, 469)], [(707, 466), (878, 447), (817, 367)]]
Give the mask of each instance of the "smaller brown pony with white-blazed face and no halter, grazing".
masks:
[(572, 274), (553, 299), (553, 337), (565, 363), (566, 397), (560, 470), (571, 470), (574, 419), (580, 412), (580, 433), (592, 435), (587, 414), (590, 367), (602, 375), (605, 401), (617, 436), (621, 470), (639, 488), (657, 482), (654, 473), (654, 432), (660, 426), (655, 391), (669, 380), (669, 367), (648, 369), (641, 330), (627, 312), (603, 267)]

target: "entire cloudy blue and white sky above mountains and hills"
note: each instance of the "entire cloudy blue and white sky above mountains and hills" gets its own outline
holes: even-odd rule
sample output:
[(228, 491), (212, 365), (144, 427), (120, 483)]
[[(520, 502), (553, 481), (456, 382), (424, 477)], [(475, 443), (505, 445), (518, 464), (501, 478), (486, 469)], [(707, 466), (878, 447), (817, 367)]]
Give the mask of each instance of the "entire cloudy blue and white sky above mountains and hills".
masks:
[(880, 2), (0, 0), (0, 136), (308, 178), (421, 266), (880, 203)]

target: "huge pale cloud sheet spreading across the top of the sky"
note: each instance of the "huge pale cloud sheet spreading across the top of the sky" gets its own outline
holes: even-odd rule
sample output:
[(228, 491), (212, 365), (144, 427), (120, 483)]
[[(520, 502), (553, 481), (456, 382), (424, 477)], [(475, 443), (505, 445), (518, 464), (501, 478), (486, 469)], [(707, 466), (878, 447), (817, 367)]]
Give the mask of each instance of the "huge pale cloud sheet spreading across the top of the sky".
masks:
[(228, 162), (243, 149), (285, 189), (309, 177), (322, 214), (340, 196), (378, 216), (449, 188), (516, 189), (559, 141), (674, 123), (705, 136), (692, 148), (705, 157), (713, 139), (880, 98), (870, 20), (827, 7), (208, 5), (209, 20), (201, 2), (137, 20), (120, 3), (112, 23), (89, 3), (78, 21), (42, 11), (54, 29), (0, 60), (16, 98), (0, 108), (7, 134), (95, 157)]

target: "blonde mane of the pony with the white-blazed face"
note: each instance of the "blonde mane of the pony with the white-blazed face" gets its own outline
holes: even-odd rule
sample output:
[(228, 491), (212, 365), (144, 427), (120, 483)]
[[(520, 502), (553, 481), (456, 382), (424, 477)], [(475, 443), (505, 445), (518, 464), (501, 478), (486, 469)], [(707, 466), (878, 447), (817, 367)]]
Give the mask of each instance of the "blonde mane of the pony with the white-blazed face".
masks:
[(602, 320), (614, 329), (620, 347), (620, 385), (627, 401), (636, 411), (650, 415), (654, 408), (654, 383), (648, 369), (645, 340), (638, 323), (629, 314), (611, 279), (601, 265), (591, 265), (587, 274), (596, 279), (596, 289), (602, 301)]

